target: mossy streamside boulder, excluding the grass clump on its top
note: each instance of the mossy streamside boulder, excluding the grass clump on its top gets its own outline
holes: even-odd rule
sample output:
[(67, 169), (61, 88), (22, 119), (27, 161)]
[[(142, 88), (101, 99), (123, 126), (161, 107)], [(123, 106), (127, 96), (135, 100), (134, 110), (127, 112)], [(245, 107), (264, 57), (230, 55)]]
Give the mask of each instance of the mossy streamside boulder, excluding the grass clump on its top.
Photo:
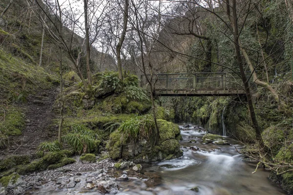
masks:
[[(113, 159), (122, 157), (134, 163), (168, 160), (182, 156), (178, 140), (181, 140), (179, 126), (163, 119), (157, 119), (160, 139), (157, 146), (152, 147), (148, 138), (122, 141), (118, 131), (110, 135), (107, 145), (109, 156)], [(121, 167), (120, 167), (121, 168)]]

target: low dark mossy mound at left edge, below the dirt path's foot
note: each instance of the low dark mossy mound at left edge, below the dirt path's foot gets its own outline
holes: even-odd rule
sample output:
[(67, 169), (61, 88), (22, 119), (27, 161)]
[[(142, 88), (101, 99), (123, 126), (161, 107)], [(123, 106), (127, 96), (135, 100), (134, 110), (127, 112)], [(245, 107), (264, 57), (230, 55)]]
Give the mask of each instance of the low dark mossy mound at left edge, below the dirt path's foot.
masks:
[(25, 165), (30, 162), (30, 156), (22, 155), (22, 156), (8, 156), (0, 162), (0, 172), (11, 169), (17, 165)]

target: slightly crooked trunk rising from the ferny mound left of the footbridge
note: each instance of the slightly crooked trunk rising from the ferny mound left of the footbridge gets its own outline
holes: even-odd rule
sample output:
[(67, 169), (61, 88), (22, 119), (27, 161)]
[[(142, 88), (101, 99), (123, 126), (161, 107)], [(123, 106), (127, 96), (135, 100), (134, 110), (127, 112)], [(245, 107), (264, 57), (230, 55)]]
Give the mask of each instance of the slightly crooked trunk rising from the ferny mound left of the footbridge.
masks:
[(116, 46), (116, 53), (117, 53), (117, 67), (118, 67), (118, 75), (120, 79), (123, 79), (122, 74), (122, 64), (121, 64), (121, 47), (125, 39), (126, 30), (127, 30), (127, 20), (128, 20), (128, 0), (125, 0), (124, 4), (124, 14), (123, 14), (123, 31), (122, 35), (119, 39), (119, 42)]

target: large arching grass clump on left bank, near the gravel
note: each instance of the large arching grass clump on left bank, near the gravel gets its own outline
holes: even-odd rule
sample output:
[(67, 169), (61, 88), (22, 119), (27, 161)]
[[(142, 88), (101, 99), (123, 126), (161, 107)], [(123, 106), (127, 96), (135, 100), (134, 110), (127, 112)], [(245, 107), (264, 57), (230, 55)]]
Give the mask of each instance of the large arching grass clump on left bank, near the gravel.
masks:
[(88, 129), (85, 125), (75, 125), (72, 127), (72, 133), (62, 137), (75, 152), (90, 153), (97, 147), (94, 132)]

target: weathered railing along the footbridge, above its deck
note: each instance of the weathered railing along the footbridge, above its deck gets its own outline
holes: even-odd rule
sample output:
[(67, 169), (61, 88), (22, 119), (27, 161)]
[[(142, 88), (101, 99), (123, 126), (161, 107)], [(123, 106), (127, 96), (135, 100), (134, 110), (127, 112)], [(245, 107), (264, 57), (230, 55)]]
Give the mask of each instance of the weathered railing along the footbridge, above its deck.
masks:
[[(147, 75), (150, 79), (150, 75)], [(250, 73), (247, 73), (250, 78)], [(237, 73), (171, 73), (154, 74), (152, 83), (158, 90), (243, 90), (244, 85)], [(141, 86), (147, 86), (146, 76), (141, 76)]]

